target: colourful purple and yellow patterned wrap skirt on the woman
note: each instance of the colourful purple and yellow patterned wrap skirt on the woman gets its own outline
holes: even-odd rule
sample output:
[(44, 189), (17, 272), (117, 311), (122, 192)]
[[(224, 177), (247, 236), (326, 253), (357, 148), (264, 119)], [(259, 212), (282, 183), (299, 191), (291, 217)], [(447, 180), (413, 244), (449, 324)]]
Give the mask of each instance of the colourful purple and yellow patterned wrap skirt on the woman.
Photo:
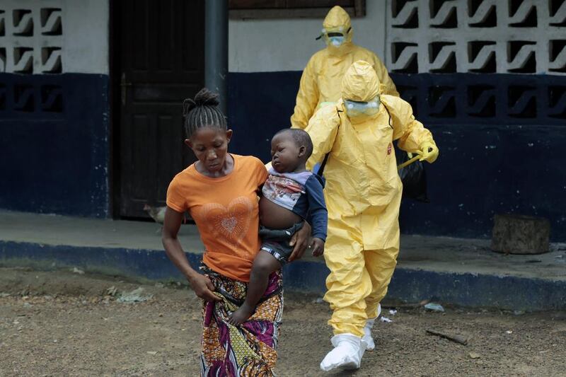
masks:
[(277, 335), (283, 311), (283, 279), (279, 269), (269, 278), (255, 313), (242, 325), (228, 316), (246, 298), (248, 284), (201, 267), (222, 300), (202, 304), (202, 376), (275, 376)]

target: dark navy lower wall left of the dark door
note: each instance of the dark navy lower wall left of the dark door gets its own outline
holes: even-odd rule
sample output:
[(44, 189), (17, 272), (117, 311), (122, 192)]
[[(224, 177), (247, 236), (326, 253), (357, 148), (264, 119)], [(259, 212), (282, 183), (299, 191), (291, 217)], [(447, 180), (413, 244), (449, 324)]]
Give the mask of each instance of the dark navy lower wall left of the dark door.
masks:
[(108, 76), (0, 74), (0, 208), (107, 217)]

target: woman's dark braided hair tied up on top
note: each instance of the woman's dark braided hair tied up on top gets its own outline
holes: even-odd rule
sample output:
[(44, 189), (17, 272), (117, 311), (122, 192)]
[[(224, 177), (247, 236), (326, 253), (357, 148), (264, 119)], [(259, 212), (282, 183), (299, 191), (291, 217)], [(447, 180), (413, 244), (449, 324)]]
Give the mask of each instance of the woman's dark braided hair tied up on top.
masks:
[(218, 93), (202, 88), (195, 99), (183, 101), (183, 117), (185, 117), (185, 132), (190, 139), (195, 131), (202, 127), (215, 127), (226, 130), (226, 117), (216, 108), (219, 104)]

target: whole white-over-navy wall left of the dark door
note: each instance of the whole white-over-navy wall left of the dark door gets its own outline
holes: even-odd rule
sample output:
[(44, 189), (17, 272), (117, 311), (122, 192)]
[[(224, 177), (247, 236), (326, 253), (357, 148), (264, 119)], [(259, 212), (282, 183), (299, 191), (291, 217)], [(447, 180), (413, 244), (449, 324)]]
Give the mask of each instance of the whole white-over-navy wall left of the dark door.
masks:
[(108, 215), (108, 1), (0, 2), (0, 207)]

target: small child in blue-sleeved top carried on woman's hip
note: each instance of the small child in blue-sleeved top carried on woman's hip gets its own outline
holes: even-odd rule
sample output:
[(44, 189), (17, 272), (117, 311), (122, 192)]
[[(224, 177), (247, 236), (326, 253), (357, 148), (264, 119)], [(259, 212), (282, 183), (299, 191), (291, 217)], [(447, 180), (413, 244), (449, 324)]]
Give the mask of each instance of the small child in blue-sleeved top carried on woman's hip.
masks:
[(313, 152), (311, 137), (302, 129), (282, 129), (271, 140), (272, 167), (260, 197), (260, 252), (253, 261), (246, 301), (229, 319), (240, 325), (253, 314), (267, 289), (270, 274), (294, 260), (291, 236), (309, 219), (314, 256), (324, 253), (328, 212), (320, 177), (306, 170)]

